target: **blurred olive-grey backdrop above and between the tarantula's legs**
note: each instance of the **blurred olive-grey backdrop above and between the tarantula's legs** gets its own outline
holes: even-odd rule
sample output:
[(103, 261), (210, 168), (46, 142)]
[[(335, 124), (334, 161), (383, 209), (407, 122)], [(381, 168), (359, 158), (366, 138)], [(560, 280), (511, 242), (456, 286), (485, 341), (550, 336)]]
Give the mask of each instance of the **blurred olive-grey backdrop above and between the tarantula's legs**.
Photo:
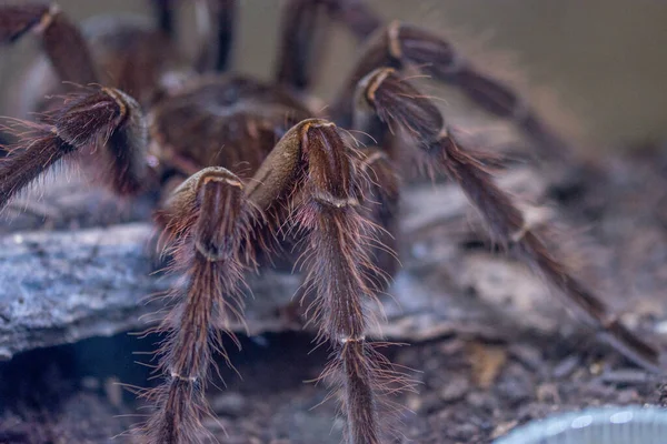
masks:
[[(498, 53), (516, 56), (528, 94), (548, 89), (559, 110), (578, 122), (586, 141), (617, 145), (667, 138), (667, 1), (663, 0), (369, 0), (387, 19), (401, 18), (450, 36), (489, 70), (504, 70)], [(140, 0), (60, 0), (77, 20), (100, 11), (142, 11)], [(241, 70), (268, 77), (277, 41), (278, 0), (241, 0)], [(354, 61), (344, 33), (332, 48), (318, 93), (340, 84)], [(480, 44), (481, 42), (481, 44)], [(0, 50), (0, 91), (26, 52)], [(482, 48), (480, 51), (479, 48)], [(487, 56), (480, 56), (486, 53)], [(490, 54), (490, 56), (489, 56)], [(508, 63), (500, 63), (508, 64)], [(2, 109), (3, 113), (11, 113)]]

